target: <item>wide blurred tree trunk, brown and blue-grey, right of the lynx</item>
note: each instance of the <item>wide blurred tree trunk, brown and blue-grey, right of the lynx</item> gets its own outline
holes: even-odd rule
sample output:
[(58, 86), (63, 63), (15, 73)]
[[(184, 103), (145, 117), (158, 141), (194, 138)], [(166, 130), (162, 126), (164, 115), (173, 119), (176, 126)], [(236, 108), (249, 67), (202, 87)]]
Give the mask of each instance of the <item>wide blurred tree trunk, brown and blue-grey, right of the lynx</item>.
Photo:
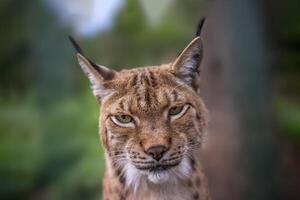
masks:
[(203, 94), (211, 112), (202, 160), (213, 199), (275, 199), (265, 33), (254, 0), (216, 1), (204, 30)]

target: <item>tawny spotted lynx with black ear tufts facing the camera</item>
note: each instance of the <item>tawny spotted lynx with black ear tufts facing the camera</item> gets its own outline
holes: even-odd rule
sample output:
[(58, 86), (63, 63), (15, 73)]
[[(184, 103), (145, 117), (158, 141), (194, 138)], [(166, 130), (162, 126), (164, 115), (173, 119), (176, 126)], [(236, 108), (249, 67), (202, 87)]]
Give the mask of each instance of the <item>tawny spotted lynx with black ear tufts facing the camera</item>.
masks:
[(210, 199), (198, 155), (207, 129), (202, 24), (174, 62), (121, 71), (93, 63), (70, 38), (101, 103), (104, 200)]

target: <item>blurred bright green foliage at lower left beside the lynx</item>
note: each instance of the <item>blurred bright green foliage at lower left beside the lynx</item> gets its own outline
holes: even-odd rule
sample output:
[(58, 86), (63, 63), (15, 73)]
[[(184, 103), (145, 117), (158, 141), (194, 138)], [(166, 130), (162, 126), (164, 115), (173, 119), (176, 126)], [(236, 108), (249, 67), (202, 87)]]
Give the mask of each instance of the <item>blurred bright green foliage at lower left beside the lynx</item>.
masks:
[(98, 199), (104, 167), (98, 105), (91, 95), (49, 109), (34, 98), (0, 103), (0, 193), (3, 197)]

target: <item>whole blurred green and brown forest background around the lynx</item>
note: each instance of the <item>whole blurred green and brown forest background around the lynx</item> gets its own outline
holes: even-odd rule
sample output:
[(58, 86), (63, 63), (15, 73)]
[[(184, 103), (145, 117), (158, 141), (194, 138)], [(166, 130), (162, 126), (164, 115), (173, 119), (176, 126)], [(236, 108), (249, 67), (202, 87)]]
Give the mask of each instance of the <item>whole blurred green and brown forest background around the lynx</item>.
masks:
[[(300, 199), (300, 1), (2, 0), (0, 198), (99, 199), (99, 106), (67, 36), (115, 69), (170, 62), (201, 17), (213, 199)], [(103, 183), (105, 184), (105, 183)]]

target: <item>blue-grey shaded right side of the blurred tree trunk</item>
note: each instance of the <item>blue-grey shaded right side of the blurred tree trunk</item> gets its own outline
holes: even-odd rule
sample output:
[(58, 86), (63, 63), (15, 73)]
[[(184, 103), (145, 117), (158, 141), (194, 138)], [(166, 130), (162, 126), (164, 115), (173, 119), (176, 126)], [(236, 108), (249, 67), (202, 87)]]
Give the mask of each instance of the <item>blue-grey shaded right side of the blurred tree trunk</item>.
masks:
[(242, 199), (281, 199), (275, 187), (278, 157), (271, 126), (270, 63), (258, 1), (230, 1), (225, 7), (229, 36), (231, 88), (239, 119), (240, 167), (245, 177)]

